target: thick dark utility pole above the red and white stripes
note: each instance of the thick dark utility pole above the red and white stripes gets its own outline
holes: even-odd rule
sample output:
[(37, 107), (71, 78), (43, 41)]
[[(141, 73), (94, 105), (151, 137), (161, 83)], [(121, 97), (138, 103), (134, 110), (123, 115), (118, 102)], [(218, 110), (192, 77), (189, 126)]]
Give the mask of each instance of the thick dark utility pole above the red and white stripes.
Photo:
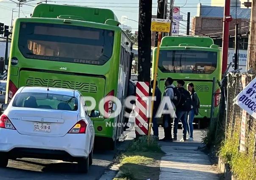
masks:
[(139, 0), (138, 81), (150, 82), (152, 0)]

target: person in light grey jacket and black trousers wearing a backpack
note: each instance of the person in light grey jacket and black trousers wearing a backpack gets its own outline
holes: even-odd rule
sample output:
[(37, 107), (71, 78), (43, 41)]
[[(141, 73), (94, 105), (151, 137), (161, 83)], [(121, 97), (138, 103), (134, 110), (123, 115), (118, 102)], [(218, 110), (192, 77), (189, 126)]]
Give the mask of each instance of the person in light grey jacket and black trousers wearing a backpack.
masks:
[[(173, 108), (175, 108), (175, 105), (178, 105), (181, 94), (178, 92), (177, 88), (173, 85), (173, 79), (168, 77), (165, 80), (165, 89), (163, 96), (167, 96), (170, 98), (172, 102)], [(167, 105), (164, 106), (164, 109), (167, 110)], [(167, 142), (173, 142), (172, 138), (172, 124), (171, 124), (171, 116), (170, 114), (166, 114), (163, 117), (163, 126), (164, 126), (164, 138), (160, 139), (160, 141), (167, 141)]]

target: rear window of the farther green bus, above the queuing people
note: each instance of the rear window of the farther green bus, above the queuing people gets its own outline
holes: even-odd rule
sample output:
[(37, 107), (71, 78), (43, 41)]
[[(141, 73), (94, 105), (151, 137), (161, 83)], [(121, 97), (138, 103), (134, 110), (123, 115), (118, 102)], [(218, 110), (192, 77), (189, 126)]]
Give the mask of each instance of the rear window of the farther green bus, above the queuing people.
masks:
[(211, 74), (217, 68), (217, 52), (161, 50), (158, 67), (164, 73)]

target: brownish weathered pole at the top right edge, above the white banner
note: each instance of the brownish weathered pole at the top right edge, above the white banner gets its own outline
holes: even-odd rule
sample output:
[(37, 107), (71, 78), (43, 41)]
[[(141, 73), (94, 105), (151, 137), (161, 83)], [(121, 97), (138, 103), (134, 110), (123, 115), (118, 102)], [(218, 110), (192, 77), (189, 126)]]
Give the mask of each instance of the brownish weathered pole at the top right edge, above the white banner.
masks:
[(249, 36), (249, 42), (248, 44), (248, 60), (247, 60), (247, 71), (250, 68), (253, 68), (253, 72), (256, 73), (256, 0), (252, 0), (251, 5), (251, 15), (250, 15), (250, 36)]

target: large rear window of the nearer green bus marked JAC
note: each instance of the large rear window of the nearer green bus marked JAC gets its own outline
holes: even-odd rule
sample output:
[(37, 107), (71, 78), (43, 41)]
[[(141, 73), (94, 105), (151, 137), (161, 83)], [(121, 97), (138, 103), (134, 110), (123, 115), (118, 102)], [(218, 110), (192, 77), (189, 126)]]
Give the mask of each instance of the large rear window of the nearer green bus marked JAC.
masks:
[(114, 31), (21, 22), (18, 46), (29, 59), (103, 65), (112, 56)]

